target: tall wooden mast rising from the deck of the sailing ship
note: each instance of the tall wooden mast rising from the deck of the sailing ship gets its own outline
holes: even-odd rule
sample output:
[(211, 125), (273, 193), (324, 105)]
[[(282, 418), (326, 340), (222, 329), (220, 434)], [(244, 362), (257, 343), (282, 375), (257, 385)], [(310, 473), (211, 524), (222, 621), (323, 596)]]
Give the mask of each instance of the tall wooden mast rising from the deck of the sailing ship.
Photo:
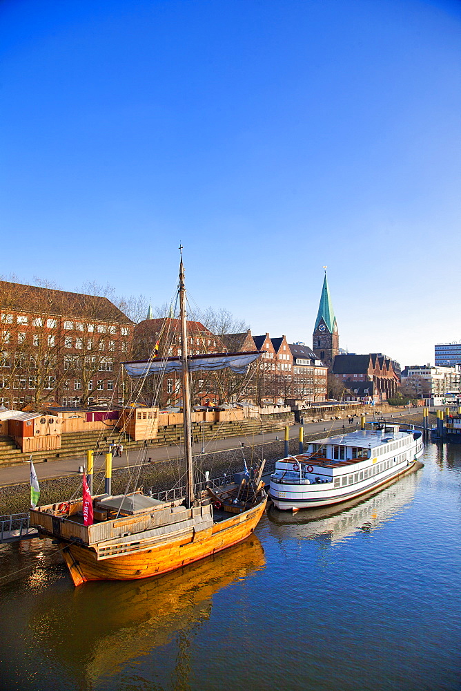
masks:
[(192, 418), (190, 415), (190, 387), (187, 354), (186, 322), (186, 287), (184, 285), (184, 265), (182, 263), (182, 245), (179, 247), (181, 262), (179, 264), (179, 316), (181, 319), (181, 359), (182, 359), (182, 410), (184, 419), (184, 455), (186, 457), (186, 507), (194, 504), (194, 475), (192, 465)]

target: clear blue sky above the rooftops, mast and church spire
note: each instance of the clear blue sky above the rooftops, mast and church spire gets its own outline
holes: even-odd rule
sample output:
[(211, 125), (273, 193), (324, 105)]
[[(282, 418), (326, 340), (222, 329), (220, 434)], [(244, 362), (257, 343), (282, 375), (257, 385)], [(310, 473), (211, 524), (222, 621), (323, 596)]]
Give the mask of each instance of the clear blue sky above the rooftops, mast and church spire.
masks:
[(461, 3), (3, 0), (0, 274), (461, 340)]

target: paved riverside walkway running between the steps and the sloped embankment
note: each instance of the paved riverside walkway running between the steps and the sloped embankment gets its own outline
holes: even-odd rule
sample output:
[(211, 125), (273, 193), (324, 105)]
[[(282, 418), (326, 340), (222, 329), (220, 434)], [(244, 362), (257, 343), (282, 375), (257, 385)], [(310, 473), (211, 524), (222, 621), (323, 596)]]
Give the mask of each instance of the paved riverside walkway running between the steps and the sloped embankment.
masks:
[[(411, 410), (398, 411), (398, 417), (406, 415), (415, 415), (415, 413), (420, 413), (421, 408), (412, 408)], [(384, 417), (387, 419), (392, 417), (395, 413), (386, 414)], [(369, 415), (367, 418), (368, 422), (373, 421), (373, 415)], [(378, 418), (377, 418), (378, 419)], [(355, 418), (357, 421), (357, 418)], [(304, 425), (304, 435), (311, 435), (314, 433), (323, 432), (326, 428), (328, 432), (331, 429), (342, 429), (342, 426), (348, 428), (347, 420), (325, 420), (324, 422), (309, 422)], [(294, 424), (290, 426), (290, 439), (299, 439), (300, 435), (300, 425)], [(217, 451), (230, 451), (236, 448), (240, 448), (242, 443), (245, 446), (250, 445), (261, 445), (270, 444), (276, 441), (278, 437), (279, 441), (284, 440), (284, 430), (281, 428), (277, 432), (264, 433), (260, 435), (246, 436), (242, 434), (242, 437), (229, 437), (228, 439), (214, 439), (206, 440), (205, 442), (205, 453), (216, 453)], [(202, 450), (202, 444), (193, 444), (194, 453), (198, 454)], [(121, 457), (114, 457), (112, 459), (112, 468), (126, 468), (128, 465), (133, 467), (139, 464), (139, 458), (141, 458), (140, 453), (144, 452), (137, 449), (133, 452), (128, 452), (128, 456), (124, 453)], [(183, 455), (182, 448), (177, 446), (160, 446), (156, 448), (148, 448), (146, 453), (146, 460), (149, 458), (152, 462), (171, 460), (175, 458), (181, 458)], [(35, 464), (35, 472), (39, 481), (41, 480), (53, 480), (56, 477), (69, 477), (72, 475), (77, 475), (79, 472), (79, 466), (84, 466), (86, 464), (86, 457), (79, 456), (75, 458), (66, 458), (63, 460), (50, 461), (47, 463), (37, 463)], [(98, 469), (104, 466), (104, 456), (95, 456), (95, 468)], [(30, 466), (28, 463), (24, 463), (20, 466), (10, 466), (8, 468), (0, 468), (0, 487), (8, 486), (11, 484), (20, 484), (21, 482), (30, 481)]]

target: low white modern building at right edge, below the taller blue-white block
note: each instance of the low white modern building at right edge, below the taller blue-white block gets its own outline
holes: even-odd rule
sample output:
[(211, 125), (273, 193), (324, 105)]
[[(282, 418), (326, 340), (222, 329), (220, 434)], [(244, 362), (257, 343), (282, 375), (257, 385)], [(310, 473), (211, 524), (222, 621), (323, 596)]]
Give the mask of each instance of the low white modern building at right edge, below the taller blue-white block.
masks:
[(440, 397), (459, 392), (461, 366), (438, 367), (427, 365), (406, 366), (402, 370), (402, 387), (415, 397)]

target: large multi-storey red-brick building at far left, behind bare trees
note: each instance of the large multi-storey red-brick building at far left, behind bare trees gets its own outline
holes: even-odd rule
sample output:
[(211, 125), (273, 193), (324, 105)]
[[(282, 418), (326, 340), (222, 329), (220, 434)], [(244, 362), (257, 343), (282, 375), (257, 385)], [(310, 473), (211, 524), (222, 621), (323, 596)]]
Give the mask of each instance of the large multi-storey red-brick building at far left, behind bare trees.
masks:
[(121, 404), (133, 322), (107, 298), (0, 281), (0, 404)]

